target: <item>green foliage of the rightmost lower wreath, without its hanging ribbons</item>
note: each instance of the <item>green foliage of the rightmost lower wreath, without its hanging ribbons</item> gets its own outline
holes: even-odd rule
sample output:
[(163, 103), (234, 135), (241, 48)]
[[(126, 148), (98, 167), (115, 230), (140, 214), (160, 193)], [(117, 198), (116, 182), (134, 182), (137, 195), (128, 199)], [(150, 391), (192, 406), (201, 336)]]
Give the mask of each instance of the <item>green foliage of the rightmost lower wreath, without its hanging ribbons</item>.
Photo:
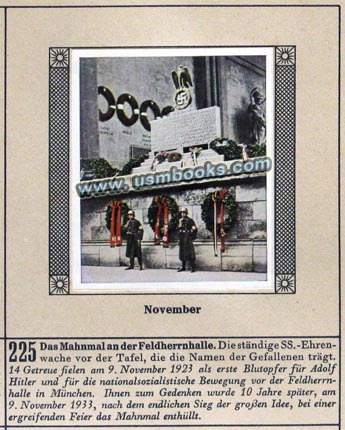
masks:
[[(214, 201), (216, 199), (217, 203), (221, 203), (218, 192), (212, 192), (207, 194), (201, 205), (201, 218), (206, 224), (208, 231), (213, 232), (214, 229)], [(238, 217), (238, 204), (236, 202), (234, 192), (228, 191), (223, 198), (224, 204), (224, 231), (230, 231), (231, 227)], [(220, 223), (217, 223), (217, 232), (220, 233)]]

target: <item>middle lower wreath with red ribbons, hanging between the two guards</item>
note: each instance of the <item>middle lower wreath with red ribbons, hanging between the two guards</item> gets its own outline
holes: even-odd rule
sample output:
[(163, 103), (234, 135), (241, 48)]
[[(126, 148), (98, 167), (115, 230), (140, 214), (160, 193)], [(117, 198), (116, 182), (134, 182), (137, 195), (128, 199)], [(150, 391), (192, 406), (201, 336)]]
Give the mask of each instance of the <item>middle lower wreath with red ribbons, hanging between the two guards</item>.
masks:
[(154, 244), (169, 246), (169, 233), (176, 230), (179, 221), (178, 206), (169, 196), (156, 196), (153, 198), (148, 210), (148, 219), (154, 232)]

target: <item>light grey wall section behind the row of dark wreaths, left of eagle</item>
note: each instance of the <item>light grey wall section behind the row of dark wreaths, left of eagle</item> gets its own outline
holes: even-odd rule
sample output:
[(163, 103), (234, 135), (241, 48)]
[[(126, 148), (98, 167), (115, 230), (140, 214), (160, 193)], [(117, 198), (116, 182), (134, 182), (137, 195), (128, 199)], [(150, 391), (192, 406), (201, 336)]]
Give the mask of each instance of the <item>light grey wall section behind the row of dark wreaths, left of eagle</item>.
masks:
[[(97, 83), (109, 88), (115, 99), (128, 93), (139, 107), (145, 100), (153, 100), (162, 111), (164, 107), (174, 105), (175, 86), (171, 72), (180, 64), (190, 69), (194, 79), (191, 57), (98, 58)], [(193, 88), (191, 92), (194, 99)], [(99, 102), (103, 102), (102, 97)], [(124, 109), (127, 116), (131, 116), (127, 104)], [(191, 109), (196, 109), (194, 102)], [(147, 114), (149, 119), (154, 119), (150, 109)], [(129, 160), (131, 146), (151, 148), (151, 133), (145, 130), (140, 119), (132, 126), (124, 126), (115, 114), (110, 120), (99, 123), (99, 130), (100, 156), (114, 167), (121, 168)]]

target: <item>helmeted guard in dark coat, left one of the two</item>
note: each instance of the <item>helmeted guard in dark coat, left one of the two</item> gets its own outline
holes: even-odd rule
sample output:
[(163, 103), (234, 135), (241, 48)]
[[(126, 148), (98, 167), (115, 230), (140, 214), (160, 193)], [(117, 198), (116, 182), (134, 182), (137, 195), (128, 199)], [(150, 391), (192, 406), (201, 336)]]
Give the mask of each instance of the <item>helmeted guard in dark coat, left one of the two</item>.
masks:
[(143, 259), (141, 253), (141, 241), (144, 235), (144, 230), (140, 222), (135, 219), (135, 214), (132, 210), (128, 211), (128, 221), (123, 226), (124, 232), (127, 235), (126, 257), (129, 258), (129, 266), (125, 270), (134, 269), (134, 258), (138, 258), (139, 270), (143, 270)]

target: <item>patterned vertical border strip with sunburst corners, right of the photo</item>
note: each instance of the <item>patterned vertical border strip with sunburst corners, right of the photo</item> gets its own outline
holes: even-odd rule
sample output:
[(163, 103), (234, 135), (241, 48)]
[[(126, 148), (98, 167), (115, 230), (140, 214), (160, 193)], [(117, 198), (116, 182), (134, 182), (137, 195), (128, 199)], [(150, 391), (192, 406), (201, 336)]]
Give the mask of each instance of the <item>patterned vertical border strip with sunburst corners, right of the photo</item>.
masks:
[(275, 48), (275, 292), (296, 292), (296, 48)]

